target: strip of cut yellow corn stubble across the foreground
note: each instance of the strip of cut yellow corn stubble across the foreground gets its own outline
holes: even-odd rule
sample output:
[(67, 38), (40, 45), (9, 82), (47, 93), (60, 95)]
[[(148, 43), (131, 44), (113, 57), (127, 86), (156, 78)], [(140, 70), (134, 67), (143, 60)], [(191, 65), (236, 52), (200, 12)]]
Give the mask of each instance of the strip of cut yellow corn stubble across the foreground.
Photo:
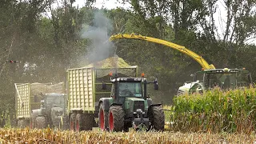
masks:
[(99, 131), (61, 131), (0, 129), (0, 143), (254, 143), (255, 134), (207, 134), (180, 132), (110, 133)]

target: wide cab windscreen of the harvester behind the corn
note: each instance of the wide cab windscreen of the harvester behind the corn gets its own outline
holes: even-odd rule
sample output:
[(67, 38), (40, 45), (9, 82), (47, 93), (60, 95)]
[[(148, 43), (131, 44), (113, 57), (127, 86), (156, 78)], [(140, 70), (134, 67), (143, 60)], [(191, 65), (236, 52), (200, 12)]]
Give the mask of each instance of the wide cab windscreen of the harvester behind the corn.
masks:
[(234, 89), (240, 86), (249, 86), (248, 73), (206, 73), (204, 74), (206, 88), (219, 86), (222, 89)]

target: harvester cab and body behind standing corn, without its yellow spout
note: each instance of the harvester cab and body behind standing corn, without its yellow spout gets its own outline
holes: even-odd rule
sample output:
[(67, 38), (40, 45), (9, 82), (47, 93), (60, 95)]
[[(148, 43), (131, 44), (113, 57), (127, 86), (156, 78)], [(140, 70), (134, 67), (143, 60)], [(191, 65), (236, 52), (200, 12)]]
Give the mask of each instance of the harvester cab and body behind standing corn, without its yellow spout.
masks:
[(183, 86), (179, 87), (178, 96), (202, 93), (203, 90), (210, 90), (216, 86), (222, 90), (242, 89), (253, 83), (250, 72), (244, 68), (202, 70), (191, 74), (191, 77), (193, 77), (193, 82), (185, 82)]

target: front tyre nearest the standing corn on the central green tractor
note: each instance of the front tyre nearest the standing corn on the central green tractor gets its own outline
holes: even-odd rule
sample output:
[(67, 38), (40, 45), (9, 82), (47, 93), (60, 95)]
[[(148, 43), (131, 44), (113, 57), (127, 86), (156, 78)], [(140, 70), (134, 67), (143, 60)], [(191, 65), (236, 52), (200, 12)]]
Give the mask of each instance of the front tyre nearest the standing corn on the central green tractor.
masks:
[(165, 127), (165, 114), (162, 106), (151, 106), (149, 110), (150, 127), (162, 131)]

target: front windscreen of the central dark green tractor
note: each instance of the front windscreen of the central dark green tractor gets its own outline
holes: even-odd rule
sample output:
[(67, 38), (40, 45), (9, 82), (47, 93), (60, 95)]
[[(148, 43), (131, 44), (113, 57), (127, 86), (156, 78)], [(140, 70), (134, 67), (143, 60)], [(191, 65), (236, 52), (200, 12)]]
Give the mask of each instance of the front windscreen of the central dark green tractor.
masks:
[(121, 97), (142, 97), (141, 82), (120, 82), (119, 95)]

